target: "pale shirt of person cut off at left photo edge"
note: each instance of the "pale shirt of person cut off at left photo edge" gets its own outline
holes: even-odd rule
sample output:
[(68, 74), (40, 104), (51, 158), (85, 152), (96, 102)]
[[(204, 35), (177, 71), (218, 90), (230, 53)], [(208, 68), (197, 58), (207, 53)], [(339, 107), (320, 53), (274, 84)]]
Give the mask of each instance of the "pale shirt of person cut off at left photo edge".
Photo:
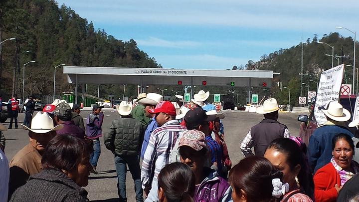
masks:
[(0, 149), (0, 202), (7, 202), (10, 171), (5, 154)]

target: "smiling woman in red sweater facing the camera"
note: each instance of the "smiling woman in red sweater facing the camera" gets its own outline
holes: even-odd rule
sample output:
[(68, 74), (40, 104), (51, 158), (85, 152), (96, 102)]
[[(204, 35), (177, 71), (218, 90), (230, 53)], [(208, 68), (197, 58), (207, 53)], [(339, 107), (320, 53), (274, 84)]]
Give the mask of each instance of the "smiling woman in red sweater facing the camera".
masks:
[(359, 172), (353, 161), (354, 143), (347, 134), (332, 140), (332, 160), (314, 175), (314, 198), (317, 202), (335, 202), (342, 186)]

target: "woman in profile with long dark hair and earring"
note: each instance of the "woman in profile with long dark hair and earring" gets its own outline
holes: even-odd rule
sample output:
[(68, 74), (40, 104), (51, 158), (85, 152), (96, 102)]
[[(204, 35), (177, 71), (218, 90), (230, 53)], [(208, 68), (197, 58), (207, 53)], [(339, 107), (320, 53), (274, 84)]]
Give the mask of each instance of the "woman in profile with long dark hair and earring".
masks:
[(314, 182), (306, 152), (306, 145), (293, 137), (272, 141), (264, 154), (264, 158), (283, 173), (283, 181), (289, 184), (283, 202), (312, 202)]

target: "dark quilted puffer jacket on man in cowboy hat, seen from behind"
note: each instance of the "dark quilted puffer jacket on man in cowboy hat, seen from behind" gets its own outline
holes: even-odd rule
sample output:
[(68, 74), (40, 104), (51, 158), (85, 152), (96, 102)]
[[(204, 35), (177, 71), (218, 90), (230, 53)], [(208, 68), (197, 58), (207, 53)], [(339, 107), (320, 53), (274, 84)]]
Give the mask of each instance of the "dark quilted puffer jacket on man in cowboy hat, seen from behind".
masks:
[(119, 156), (138, 155), (142, 124), (131, 115), (112, 121), (108, 133), (104, 136), (107, 149)]

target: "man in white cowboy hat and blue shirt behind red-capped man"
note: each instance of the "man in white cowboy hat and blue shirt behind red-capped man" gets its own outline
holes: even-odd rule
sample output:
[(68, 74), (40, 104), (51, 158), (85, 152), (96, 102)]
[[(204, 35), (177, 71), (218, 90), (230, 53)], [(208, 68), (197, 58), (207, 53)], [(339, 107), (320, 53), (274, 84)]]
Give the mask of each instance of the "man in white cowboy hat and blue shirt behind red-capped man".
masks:
[(150, 121), (145, 130), (144, 140), (141, 147), (141, 159), (144, 158), (146, 148), (150, 141), (151, 133), (157, 128), (157, 122), (155, 119), (155, 114), (149, 112), (151, 109), (155, 109), (158, 103), (163, 101), (163, 96), (157, 93), (148, 93), (146, 98), (143, 98), (139, 101), (139, 104), (145, 106), (144, 111), (147, 117), (150, 118)]

